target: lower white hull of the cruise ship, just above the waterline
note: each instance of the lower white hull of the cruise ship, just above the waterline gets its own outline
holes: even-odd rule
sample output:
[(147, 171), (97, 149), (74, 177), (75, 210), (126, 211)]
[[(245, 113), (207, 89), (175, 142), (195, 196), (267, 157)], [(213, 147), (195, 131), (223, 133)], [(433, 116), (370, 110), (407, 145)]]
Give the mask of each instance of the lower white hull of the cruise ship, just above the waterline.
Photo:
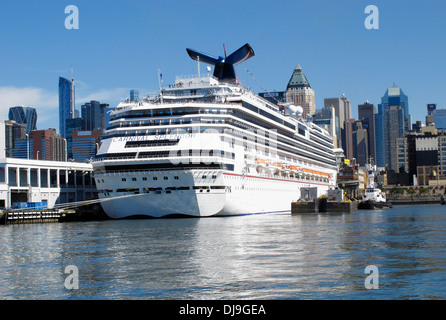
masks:
[[(202, 179), (206, 176), (205, 179)], [(212, 176), (216, 176), (212, 179)], [(308, 183), (298, 179), (234, 173), (190, 171), (153, 172), (99, 176), (111, 186), (122, 181), (157, 177), (156, 191), (146, 191), (146, 184), (135, 182), (127, 195), (102, 195), (102, 207), (112, 219), (132, 217), (165, 218), (171, 216), (213, 217), (289, 212), (291, 202), (300, 198), (302, 187), (317, 187), (324, 194), (330, 187), (324, 183)], [(175, 177), (178, 180), (175, 180)], [(209, 177), (209, 178), (208, 178)], [(138, 179), (139, 178), (139, 179)], [(170, 182), (174, 182), (173, 184)], [(184, 181), (189, 182), (186, 185)], [(173, 187), (172, 187), (173, 186)], [(175, 190), (178, 188), (179, 190)], [(188, 188), (187, 190), (185, 190)]]

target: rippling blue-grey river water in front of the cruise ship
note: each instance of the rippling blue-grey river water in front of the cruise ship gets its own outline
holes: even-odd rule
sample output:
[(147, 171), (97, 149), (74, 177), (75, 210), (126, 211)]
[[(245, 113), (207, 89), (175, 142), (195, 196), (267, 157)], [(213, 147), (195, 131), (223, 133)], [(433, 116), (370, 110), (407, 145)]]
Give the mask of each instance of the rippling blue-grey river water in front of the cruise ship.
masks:
[[(446, 298), (440, 205), (7, 225), (0, 243), (0, 299)], [(365, 287), (369, 265), (378, 289)]]

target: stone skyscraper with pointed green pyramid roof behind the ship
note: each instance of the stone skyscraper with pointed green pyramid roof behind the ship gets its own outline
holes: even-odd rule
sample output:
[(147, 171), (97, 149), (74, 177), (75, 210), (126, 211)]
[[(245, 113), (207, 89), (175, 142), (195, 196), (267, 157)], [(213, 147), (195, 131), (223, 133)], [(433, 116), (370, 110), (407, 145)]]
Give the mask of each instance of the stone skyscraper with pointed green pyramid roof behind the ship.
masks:
[(303, 117), (316, 112), (314, 91), (300, 65), (294, 68), (286, 89), (286, 101), (303, 109)]

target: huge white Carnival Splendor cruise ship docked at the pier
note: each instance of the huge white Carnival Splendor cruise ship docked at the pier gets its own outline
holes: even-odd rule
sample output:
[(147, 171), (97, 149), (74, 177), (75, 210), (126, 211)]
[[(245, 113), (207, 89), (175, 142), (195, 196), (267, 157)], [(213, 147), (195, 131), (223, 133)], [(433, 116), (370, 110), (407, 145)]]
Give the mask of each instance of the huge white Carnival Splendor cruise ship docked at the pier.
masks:
[(177, 77), (110, 112), (93, 161), (109, 217), (289, 212), (301, 188), (336, 186), (332, 137), (301, 107), (281, 110), (238, 83), (234, 66), (254, 56), (249, 44), (227, 57), (187, 53), (213, 75)]

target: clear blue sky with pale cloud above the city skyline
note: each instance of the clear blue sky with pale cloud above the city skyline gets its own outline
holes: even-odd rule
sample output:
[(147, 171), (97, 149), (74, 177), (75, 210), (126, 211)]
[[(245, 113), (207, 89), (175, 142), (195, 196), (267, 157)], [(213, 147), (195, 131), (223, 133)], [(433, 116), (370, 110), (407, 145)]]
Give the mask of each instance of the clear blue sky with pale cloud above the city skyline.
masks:
[[(65, 28), (68, 5), (79, 9), (78, 30)], [(364, 26), (367, 5), (379, 9), (377, 30)], [(93, 99), (114, 106), (130, 89), (156, 92), (158, 69), (164, 84), (196, 74), (186, 48), (223, 55), (223, 44), (229, 54), (249, 43), (256, 56), (236, 71), (256, 92), (284, 90), (300, 64), (317, 108), (345, 93), (356, 116), (395, 82), (424, 122), (427, 103), (446, 108), (445, 21), (441, 0), (5, 0), (0, 120), (23, 104), (37, 108), (39, 129), (58, 128), (58, 77), (72, 65), (77, 109)]]

